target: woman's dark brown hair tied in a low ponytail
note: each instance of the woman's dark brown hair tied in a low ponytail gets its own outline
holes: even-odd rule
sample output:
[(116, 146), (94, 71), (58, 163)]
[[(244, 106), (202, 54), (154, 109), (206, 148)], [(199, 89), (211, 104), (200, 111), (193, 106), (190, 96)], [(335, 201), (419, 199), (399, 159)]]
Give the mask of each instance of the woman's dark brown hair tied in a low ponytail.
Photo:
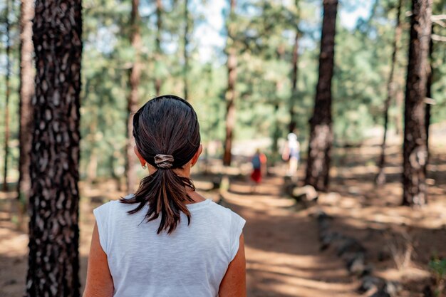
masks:
[(133, 197), (121, 197), (120, 202), (139, 204), (129, 214), (148, 204), (147, 222), (161, 216), (157, 234), (174, 231), (181, 212), (190, 224), (191, 215), (185, 202), (193, 200), (185, 187), (195, 190), (195, 186), (191, 179), (180, 177), (173, 169), (189, 162), (199, 148), (199, 124), (194, 108), (175, 95), (153, 98), (133, 115), (133, 137), (140, 155), (157, 170), (141, 179)]

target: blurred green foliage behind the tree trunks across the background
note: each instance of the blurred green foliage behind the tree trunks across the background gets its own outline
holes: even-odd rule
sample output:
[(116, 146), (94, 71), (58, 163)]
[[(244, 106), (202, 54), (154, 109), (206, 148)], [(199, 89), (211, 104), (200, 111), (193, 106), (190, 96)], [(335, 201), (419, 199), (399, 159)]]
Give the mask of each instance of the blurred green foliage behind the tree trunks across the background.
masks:
[[(227, 89), (228, 48), (216, 48), (212, 61), (199, 56), (200, 41), (192, 31), (212, 23), (204, 15), (202, 0), (190, 0), (190, 69), (187, 73), (190, 100), (197, 110), (204, 144), (224, 139), (224, 96)], [(289, 102), (294, 99), (294, 116), (300, 139), (308, 137), (308, 120), (318, 79), (321, 1), (237, 1), (235, 14), (224, 18), (233, 32), (229, 46), (237, 53), (236, 140), (286, 137), (290, 121)], [(404, 1), (403, 36), (395, 68), (395, 88), (405, 92), (410, 1)], [(299, 7), (296, 6), (299, 3)], [(140, 3), (142, 63), (140, 104), (155, 95), (155, 78), (162, 81), (161, 93), (183, 93), (182, 57), (184, 0), (162, 1), (161, 52), (156, 53), (157, 14), (155, 1)], [(335, 72), (333, 77), (333, 129), (338, 144), (361, 142), (365, 131), (383, 124), (383, 103), (387, 95), (397, 0), (373, 1), (370, 15), (346, 28), (338, 16)], [(341, 10), (355, 11), (357, 1), (346, 0)], [(445, 14), (444, 0), (435, 0), (433, 14)], [(19, 110), (19, 1), (11, 13), (13, 75), (11, 77), (11, 168), (17, 167)], [(5, 77), (4, 6), (0, 5), (0, 81)], [(128, 71), (135, 59), (130, 46), (130, 1), (83, 1), (83, 90), (81, 100), (81, 172), (110, 176), (123, 171), (125, 155)], [(195, 28), (194, 28), (195, 27)], [(220, 28), (217, 28), (220, 29)], [(296, 93), (291, 92), (294, 36), (299, 30), (299, 71)], [(227, 32), (221, 28), (222, 38)], [(434, 25), (434, 33), (446, 36), (446, 28)], [(446, 43), (435, 42), (432, 123), (446, 118)], [(156, 57), (159, 58), (156, 58)], [(4, 83), (0, 83), (0, 110), (4, 111)], [(390, 129), (403, 106), (392, 98)], [(0, 143), (4, 143), (4, 116), (0, 117)], [(305, 147), (303, 145), (302, 147)], [(3, 159), (4, 150), (0, 150)], [(96, 160), (98, 166), (92, 165)], [(0, 168), (3, 166), (3, 162)], [(90, 172), (91, 173), (91, 172)], [(11, 176), (15, 173), (11, 172)]]

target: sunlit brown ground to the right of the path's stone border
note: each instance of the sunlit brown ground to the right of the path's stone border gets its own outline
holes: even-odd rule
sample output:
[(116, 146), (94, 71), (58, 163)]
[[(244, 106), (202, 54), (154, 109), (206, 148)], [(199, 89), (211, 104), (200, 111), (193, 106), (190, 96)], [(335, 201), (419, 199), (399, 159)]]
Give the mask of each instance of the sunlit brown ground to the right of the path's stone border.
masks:
[[(435, 145), (436, 144), (436, 145)], [(370, 152), (371, 150), (371, 152)], [(331, 215), (332, 229), (361, 241), (375, 274), (403, 283), (400, 296), (420, 296), (430, 283), (428, 262), (446, 257), (446, 149), (434, 142), (427, 167), (429, 204), (402, 207), (400, 183), (403, 162), (400, 147), (390, 147), (385, 168), (388, 182), (374, 183), (379, 150), (350, 149), (346, 167), (333, 169), (330, 191), (321, 194), (318, 207)]]

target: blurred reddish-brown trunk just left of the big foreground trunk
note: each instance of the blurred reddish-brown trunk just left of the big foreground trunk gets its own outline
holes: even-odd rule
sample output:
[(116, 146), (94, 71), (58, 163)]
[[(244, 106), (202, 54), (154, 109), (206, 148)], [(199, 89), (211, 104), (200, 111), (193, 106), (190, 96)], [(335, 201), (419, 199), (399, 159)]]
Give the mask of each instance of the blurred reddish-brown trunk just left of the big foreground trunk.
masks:
[(19, 182), (17, 198), (28, 202), (31, 190), (29, 176), (29, 154), (31, 152), (31, 133), (33, 128), (33, 110), (31, 98), (34, 94), (33, 68), (33, 20), (32, 0), (20, 3), (20, 103), (19, 103)]

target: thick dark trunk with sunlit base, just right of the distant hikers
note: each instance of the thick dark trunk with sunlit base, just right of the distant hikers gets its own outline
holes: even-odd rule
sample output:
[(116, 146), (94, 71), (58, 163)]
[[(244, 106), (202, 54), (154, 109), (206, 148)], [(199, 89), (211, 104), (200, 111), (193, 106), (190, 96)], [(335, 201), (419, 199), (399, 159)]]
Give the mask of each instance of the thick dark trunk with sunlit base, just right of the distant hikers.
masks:
[(319, 78), (313, 117), (310, 120), (310, 140), (305, 177), (305, 184), (310, 184), (319, 191), (328, 189), (330, 150), (333, 142), (331, 79), (333, 78), (337, 9), (338, 0), (323, 0)]

